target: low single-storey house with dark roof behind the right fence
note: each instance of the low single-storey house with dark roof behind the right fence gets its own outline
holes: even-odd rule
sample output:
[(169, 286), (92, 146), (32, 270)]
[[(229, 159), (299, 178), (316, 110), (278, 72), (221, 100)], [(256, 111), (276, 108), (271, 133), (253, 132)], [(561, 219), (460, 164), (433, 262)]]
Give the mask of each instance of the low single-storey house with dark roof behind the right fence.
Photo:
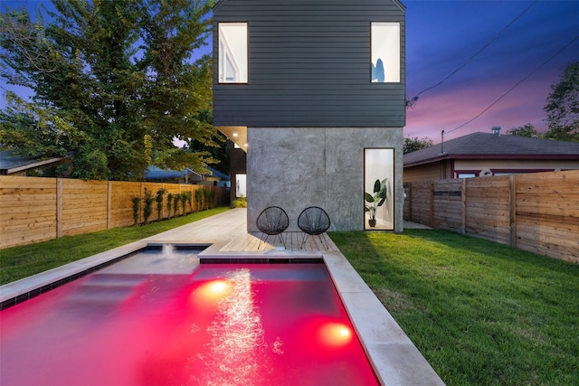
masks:
[(404, 183), (579, 169), (579, 144), (472, 133), (404, 155)]

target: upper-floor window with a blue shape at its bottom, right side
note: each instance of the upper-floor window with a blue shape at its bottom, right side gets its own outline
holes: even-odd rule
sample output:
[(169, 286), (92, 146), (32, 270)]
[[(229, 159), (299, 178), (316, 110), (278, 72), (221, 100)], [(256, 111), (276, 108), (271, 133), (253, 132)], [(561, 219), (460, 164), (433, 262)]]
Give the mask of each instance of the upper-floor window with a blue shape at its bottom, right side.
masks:
[(373, 82), (400, 81), (400, 23), (372, 23)]

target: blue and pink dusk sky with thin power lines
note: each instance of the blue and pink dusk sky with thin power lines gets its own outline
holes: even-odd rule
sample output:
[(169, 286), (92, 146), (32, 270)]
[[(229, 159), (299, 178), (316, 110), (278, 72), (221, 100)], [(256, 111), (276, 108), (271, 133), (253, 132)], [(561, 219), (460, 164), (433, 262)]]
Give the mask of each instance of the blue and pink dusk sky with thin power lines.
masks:
[[(41, 2), (2, 3), (33, 8)], [(410, 99), (420, 93), (406, 111), (404, 137), (439, 143), (442, 130), (448, 140), (476, 131), (490, 133), (493, 126), (502, 127), (501, 133), (527, 123), (538, 131), (546, 129), (543, 108), (550, 86), (566, 64), (579, 60), (579, 0), (403, 4), (406, 92)], [(0, 85), (12, 89), (4, 81)]]

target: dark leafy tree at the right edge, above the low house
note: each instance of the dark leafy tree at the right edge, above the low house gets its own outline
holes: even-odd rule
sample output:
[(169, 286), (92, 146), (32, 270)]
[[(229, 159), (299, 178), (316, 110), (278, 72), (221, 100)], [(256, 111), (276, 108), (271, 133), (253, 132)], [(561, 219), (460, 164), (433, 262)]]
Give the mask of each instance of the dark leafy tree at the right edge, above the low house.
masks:
[(545, 137), (579, 142), (579, 61), (568, 64), (551, 85), (545, 106), (549, 129)]

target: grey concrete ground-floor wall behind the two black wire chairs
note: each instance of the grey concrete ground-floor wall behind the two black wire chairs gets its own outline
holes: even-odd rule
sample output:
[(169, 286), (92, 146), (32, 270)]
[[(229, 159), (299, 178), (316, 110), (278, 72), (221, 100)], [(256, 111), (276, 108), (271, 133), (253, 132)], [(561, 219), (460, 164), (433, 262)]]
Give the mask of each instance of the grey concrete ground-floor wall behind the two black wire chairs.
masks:
[(394, 231), (403, 230), (401, 127), (248, 127), (248, 231), (268, 206), (289, 215), (288, 231), (308, 206), (326, 210), (330, 231), (364, 230), (364, 148), (394, 148)]

